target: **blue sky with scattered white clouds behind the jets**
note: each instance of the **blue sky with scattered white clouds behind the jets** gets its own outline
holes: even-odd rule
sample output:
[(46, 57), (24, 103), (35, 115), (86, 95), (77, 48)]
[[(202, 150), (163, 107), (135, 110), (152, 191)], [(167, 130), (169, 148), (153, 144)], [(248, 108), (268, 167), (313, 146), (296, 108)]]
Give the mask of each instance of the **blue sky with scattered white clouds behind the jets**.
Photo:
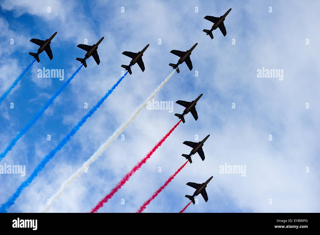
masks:
[[(269, 7), (272, 13), (269, 13)], [(47, 7), (51, 12), (47, 12)], [(125, 12), (121, 13), (121, 7)], [(195, 12), (198, 7), (198, 12)], [(202, 32), (232, 8), (224, 21), (227, 35)], [(132, 67), (116, 90), (78, 133), (46, 165), (8, 212), (37, 212), (47, 199), (87, 160), (131, 113), (172, 72), (171, 50), (192, 52), (193, 70), (180, 65), (156, 101), (191, 101), (199, 94), (199, 119), (188, 114), (151, 159), (109, 200), (100, 212), (135, 212), (184, 162), (182, 153), (210, 134), (204, 145), (205, 161), (198, 155), (161, 192), (145, 212), (178, 212), (193, 188), (210, 176), (207, 203), (185, 212), (319, 212), (319, 3), (313, 1), (2, 1), (0, 3), (0, 91), (12, 84), (36, 52), (31, 38), (51, 43), (53, 59), (40, 54), (35, 63), (0, 106), (0, 148), (38, 112), (62, 83), (79, 67), (76, 47), (88, 39), (99, 45), (100, 65), (87, 60), (44, 115), (22, 137), (0, 164), (26, 165), (28, 177), (37, 164), (76, 125), (121, 77), (122, 64), (130, 58), (123, 51), (145, 51), (146, 70)], [(14, 44), (10, 44), (14, 39)], [(158, 44), (161, 39), (161, 44)], [(235, 39), (236, 44), (232, 44)], [(309, 44), (306, 44), (309, 39)], [(64, 81), (38, 78), (39, 68), (64, 69)], [(257, 70), (283, 69), (284, 79), (257, 78)], [(198, 71), (199, 76), (195, 76)], [(10, 103), (14, 109), (10, 109)], [(84, 103), (88, 109), (84, 109)], [(236, 108), (232, 109), (232, 103)], [(310, 108), (306, 109), (306, 103)], [(50, 212), (87, 212), (140, 161), (176, 124), (168, 110), (144, 109), (91, 165), (88, 173), (72, 183)], [(51, 141), (47, 141), (47, 135)], [(269, 141), (269, 135), (273, 140)], [(246, 176), (220, 174), (219, 166), (245, 165)], [(158, 167), (162, 172), (158, 172)], [(306, 173), (309, 167), (309, 173)], [(4, 203), (26, 178), (0, 175), (0, 202)], [(121, 204), (121, 199), (125, 204)], [(269, 204), (272, 199), (272, 205)]]

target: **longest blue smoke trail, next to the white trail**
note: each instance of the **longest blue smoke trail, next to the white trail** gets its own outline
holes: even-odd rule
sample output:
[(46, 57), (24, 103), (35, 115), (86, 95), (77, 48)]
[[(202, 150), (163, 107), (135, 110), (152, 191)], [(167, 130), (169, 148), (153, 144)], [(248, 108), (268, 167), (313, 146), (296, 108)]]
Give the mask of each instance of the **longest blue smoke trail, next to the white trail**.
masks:
[(119, 85), (119, 83), (122, 81), (122, 79), (124, 79), (124, 77), (125, 77), (125, 75), (127, 75), (127, 73), (128, 73), (128, 71), (118, 80), (118, 82), (116, 82), (116, 84), (113, 85), (113, 87), (110, 90), (108, 90), (108, 92), (98, 101), (98, 103), (95, 106), (93, 106), (93, 108), (83, 118), (81, 118), (81, 120), (76, 124), (76, 126), (74, 126), (74, 128), (71, 129), (69, 134), (66, 135), (60, 141), (60, 143), (50, 153), (48, 153), (44, 157), (44, 159), (40, 162), (40, 164), (32, 172), (31, 176), (29, 176), (29, 178), (27, 180), (22, 182), (22, 184), (18, 187), (17, 191), (7, 200), (7, 202), (5, 202), (4, 204), (1, 205), (0, 213), (6, 212), (6, 210), (14, 204), (15, 200), (20, 196), (20, 193), (22, 192), (22, 190), (24, 188), (28, 187), (28, 185), (36, 178), (38, 173), (43, 170), (45, 164), (47, 164), (53, 158), (53, 156), (65, 144), (67, 144), (68, 140), (70, 140), (70, 138), (76, 134), (76, 132), (80, 129), (80, 127), (84, 124), (84, 122), (86, 122), (87, 119), (89, 117), (91, 117), (92, 114), (94, 114), (94, 112), (102, 105), (103, 101), (105, 101), (108, 98), (108, 96), (112, 93), (113, 90), (115, 90), (115, 88)]

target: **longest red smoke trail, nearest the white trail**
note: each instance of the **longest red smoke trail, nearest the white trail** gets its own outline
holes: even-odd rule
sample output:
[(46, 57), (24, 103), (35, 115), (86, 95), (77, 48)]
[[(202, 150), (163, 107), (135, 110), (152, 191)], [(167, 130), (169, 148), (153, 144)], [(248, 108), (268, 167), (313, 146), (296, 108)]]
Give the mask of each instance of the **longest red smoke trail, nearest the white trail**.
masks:
[(97, 212), (101, 207), (103, 207), (103, 205), (108, 202), (108, 200), (110, 198), (113, 197), (113, 195), (115, 195), (116, 192), (118, 192), (119, 189), (121, 189), (121, 187), (130, 179), (130, 177), (141, 168), (141, 166), (146, 163), (146, 161), (151, 157), (151, 155), (156, 151), (157, 148), (159, 148), (162, 143), (165, 141), (166, 138), (168, 138), (170, 136), (170, 134), (172, 133), (172, 131), (174, 129), (176, 129), (176, 127), (180, 124), (181, 120), (178, 121), (177, 124), (174, 125), (174, 127), (172, 127), (172, 129), (153, 147), (153, 149), (141, 160), (137, 163), (137, 165), (135, 165), (131, 171), (129, 171), (121, 180), (120, 182), (111, 190), (111, 192), (109, 192), (109, 194), (107, 194), (103, 199), (101, 199), (98, 204), (91, 209), (90, 213), (95, 213)]

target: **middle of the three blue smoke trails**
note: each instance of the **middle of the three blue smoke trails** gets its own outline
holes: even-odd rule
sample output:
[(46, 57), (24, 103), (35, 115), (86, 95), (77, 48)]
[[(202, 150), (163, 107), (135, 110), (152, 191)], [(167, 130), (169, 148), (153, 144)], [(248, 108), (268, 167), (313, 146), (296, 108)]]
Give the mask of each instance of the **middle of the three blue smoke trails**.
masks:
[(63, 88), (65, 88), (69, 84), (69, 82), (71, 82), (71, 80), (76, 76), (76, 74), (79, 72), (79, 70), (81, 69), (82, 66), (83, 66), (83, 64), (76, 70), (76, 72), (74, 72), (69, 77), (69, 79), (65, 83), (62, 84), (60, 89), (47, 101), (47, 103), (45, 103), (45, 105), (40, 109), (40, 111), (38, 113), (36, 113), (36, 115), (34, 115), (33, 118), (28, 122), (28, 124), (23, 129), (21, 129), (19, 131), (18, 135), (16, 135), (16, 137), (14, 137), (11, 140), (10, 144), (0, 154), (0, 161), (12, 149), (12, 147), (17, 143), (17, 141), (28, 131), (28, 129), (30, 129), (30, 127), (32, 127), (32, 125), (35, 124), (35, 122), (42, 116), (44, 111), (52, 104), (53, 100), (60, 95), (60, 93), (62, 92)]

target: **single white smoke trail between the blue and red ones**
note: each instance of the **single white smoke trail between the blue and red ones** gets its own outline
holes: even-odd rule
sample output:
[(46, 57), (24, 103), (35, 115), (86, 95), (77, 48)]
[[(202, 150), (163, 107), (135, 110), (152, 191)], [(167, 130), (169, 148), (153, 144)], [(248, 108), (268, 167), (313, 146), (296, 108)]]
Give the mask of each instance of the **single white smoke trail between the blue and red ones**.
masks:
[(135, 119), (135, 117), (140, 113), (140, 111), (147, 106), (148, 101), (150, 101), (152, 98), (155, 97), (155, 95), (159, 92), (159, 90), (164, 86), (165, 83), (168, 82), (168, 80), (172, 77), (176, 69), (173, 70), (173, 72), (163, 81), (161, 84), (158, 86), (158, 88), (148, 97), (148, 99), (142, 103), (131, 115), (131, 117), (123, 123), (116, 131), (108, 138), (108, 140), (102, 144), (99, 149), (87, 160), (83, 163), (82, 167), (80, 167), (73, 175), (71, 175), (68, 180), (63, 182), (61, 185), (60, 189), (58, 192), (56, 192), (51, 198), (50, 198), (50, 204), (46, 205), (44, 208), (40, 210), (40, 213), (47, 212), (52, 204), (54, 203), (55, 200), (57, 200), (61, 194), (66, 190), (69, 184), (71, 184), (73, 181), (76, 180), (77, 177), (80, 177), (82, 173), (84, 172), (85, 169), (89, 168), (89, 165), (95, 162), (101, 155), (102, 153), (108, 148), (108, 146), (116, 140), (116, 138), (126, 129), (129, 124)]

